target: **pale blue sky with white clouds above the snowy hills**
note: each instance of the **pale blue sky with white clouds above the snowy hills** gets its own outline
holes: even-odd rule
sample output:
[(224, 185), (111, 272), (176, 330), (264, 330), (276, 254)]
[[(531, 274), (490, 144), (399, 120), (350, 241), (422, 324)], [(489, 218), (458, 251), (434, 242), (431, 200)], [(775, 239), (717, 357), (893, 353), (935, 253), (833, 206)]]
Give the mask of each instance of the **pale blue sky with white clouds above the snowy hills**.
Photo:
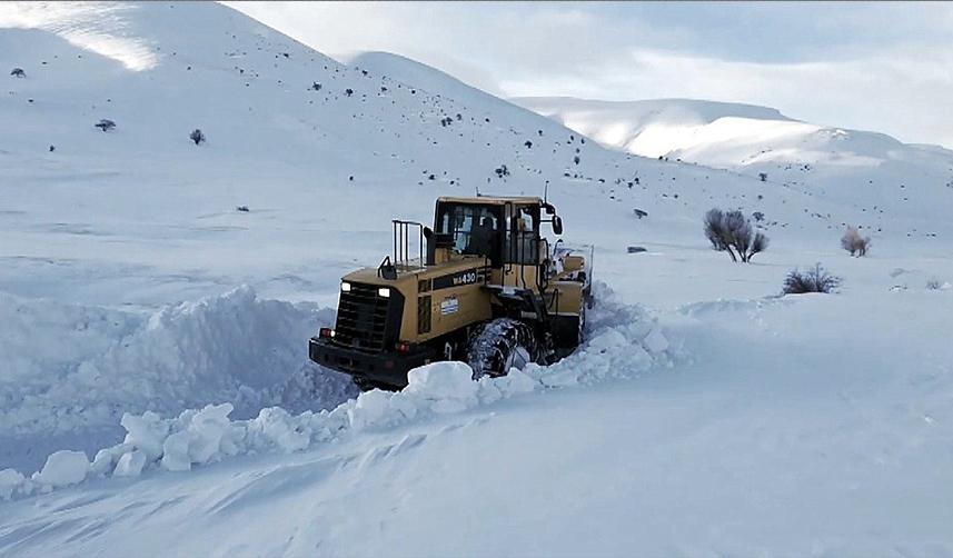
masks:
[(225, 2), (502, 97), (709, 99), (953, 148), (953, 3)]

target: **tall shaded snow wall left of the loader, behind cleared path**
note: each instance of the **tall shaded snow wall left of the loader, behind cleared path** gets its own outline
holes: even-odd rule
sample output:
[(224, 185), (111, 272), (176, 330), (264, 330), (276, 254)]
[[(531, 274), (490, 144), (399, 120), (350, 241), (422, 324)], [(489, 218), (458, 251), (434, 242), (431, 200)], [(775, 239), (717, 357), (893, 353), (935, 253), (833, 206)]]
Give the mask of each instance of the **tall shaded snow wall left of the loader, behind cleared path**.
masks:
[(231, 401), (248, 417), (354, 393), (347, 378), (308, 360), (307, 339), (332, 311), (261, 300), (250, 288), (151, 316), (0, 295), (0, 439), (105, 428), (123, 412)]

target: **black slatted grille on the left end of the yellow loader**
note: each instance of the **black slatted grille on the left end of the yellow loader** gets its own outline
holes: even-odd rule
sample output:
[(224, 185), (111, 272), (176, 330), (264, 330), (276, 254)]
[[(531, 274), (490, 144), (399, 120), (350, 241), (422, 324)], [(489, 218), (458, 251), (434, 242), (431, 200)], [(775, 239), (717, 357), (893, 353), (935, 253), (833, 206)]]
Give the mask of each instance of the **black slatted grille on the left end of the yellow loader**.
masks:
[(341, 291), (336, 343), (367, 351), (384, 349), (390, 299), (377, 291), (378, 287), (359, 283), (350, 283), (350, 291)]

